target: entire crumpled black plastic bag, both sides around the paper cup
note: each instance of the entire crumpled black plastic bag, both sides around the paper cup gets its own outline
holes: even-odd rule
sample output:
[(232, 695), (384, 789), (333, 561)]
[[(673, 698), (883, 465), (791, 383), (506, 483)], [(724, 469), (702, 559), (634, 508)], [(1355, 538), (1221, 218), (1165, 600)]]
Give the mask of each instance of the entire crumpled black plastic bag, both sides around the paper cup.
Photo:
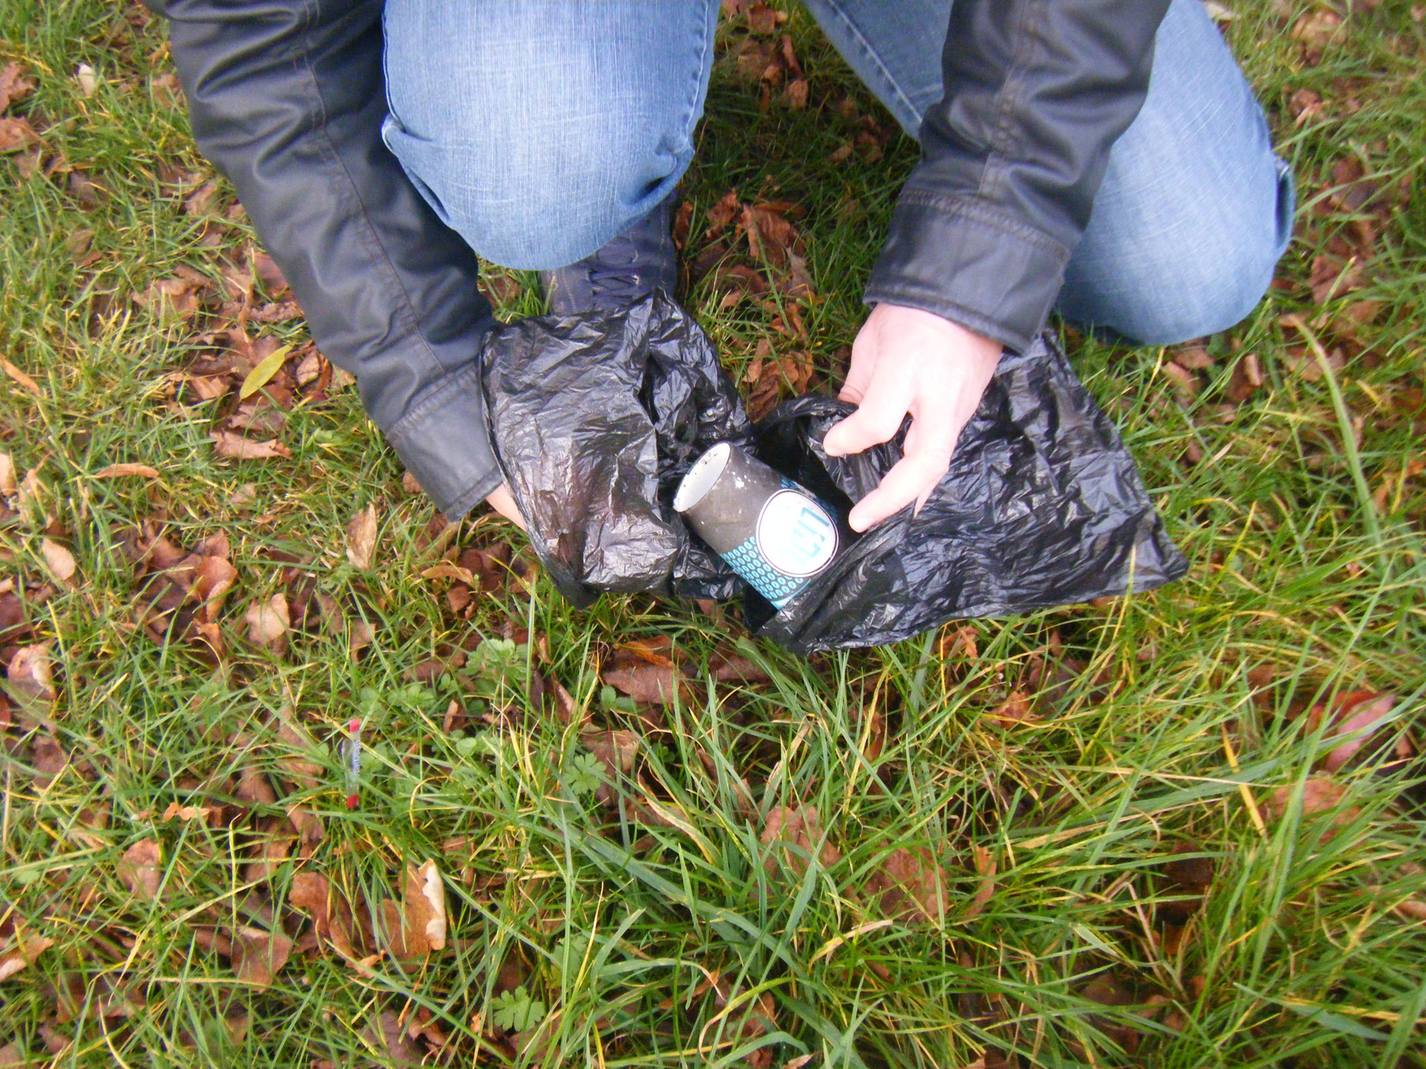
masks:
[(749, 629), (806, 654), (1138, 593), (1188, 570), (1118, 432), (1050, 335), (1001, 358), (921, 512), (907, 506), (851, 539), (781, 611), (673, 512), (679, 479), (732, 440), (846, 510), (900, 459), (904, 429), (829, 458), (823, 435), (853, 409), (807, 395), (754, 430), (712, 342), (662, 294), (627, 315), (496, 328), (482, 372), (530, 542), (580, 606), (602, 590), (724, 599), (742, 589)]

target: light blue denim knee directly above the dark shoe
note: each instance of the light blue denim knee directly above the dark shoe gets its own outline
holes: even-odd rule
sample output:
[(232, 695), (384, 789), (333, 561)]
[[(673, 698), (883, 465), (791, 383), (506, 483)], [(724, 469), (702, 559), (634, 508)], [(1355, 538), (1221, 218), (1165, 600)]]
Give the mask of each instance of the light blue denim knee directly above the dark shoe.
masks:
[(498, 264), (558, 268), (673, 188), (693, 155), (716, 0), (386, 0), (382, 138)]

